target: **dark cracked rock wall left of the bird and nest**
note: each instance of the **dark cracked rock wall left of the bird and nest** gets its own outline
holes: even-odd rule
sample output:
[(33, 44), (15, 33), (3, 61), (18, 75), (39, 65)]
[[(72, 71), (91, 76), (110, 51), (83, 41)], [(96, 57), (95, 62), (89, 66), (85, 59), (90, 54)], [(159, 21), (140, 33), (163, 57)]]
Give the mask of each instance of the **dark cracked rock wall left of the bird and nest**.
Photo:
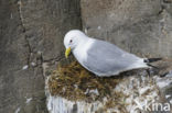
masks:
[(0, 0), (0, 113), (47, 113), (43, 64), (79, 16), (78, 0)]

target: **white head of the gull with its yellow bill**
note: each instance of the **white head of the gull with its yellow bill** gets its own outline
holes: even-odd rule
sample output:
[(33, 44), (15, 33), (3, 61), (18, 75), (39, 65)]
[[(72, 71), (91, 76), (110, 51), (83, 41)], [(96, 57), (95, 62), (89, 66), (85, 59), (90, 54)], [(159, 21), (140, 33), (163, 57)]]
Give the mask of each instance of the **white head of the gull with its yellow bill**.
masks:
[(69, 53), (76, 48), (76, 46), (83, 41), (86, 35), (79, 30), (72, 30), (66, 33), (64, 37), (64, 46), (66, 48), (65, 57), (67, 58)]

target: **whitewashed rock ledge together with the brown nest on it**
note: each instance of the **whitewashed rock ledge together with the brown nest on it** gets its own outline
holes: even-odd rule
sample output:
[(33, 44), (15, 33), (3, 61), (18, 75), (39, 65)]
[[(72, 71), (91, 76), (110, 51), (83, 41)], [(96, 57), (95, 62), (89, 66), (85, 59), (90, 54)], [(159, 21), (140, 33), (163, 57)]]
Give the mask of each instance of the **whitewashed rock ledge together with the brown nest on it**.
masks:
[(72, 61), (58, 65), (46, 87), (50, 113), (144, 113), (138, 104), (161, 101), (155, 79), (144, 69), (100, 78)]

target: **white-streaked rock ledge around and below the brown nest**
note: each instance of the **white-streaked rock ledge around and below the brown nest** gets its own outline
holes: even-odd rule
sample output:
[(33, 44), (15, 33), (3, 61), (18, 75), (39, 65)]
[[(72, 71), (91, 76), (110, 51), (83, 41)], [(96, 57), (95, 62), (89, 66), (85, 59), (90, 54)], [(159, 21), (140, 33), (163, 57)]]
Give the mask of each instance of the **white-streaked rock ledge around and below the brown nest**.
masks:
[[(106, 94), (103, 99), (95, 101), (86, 101), (86, 99), (67, 99), (68, 97), (73, 95), (67, 95), (65, 98), (61, 97), (61, 94), (51, 95), (47, 87), (49, 84), (46, 84), (47, 110), (50, 113), (171, 113), (170, 102), (162, 100), (154, 80), (162, 79), (159, 77), (150, 78), (146, 70), (140, 70), (136, 74), (133, 72), (132, 76), (126, 76), (122, 80), (120, 78), (120, 82), (115, 84), (115, 89), (110, 89), (110, 95)], [(166, 84), (165, 80), (162, 80), (162, 82)], [(164, 88), (164, 86), (161, 88)], [(82, 90), (82, 88), (78, 89), (79, 91)], [(76, 88), (73, 90), (77, 91)], [(101, 92), (99, 92), (97, 89), (92, 89), (92, 91), (94, 93), (88, 94), (88, 92), (90, 92), (90, 89), (88, 88), (87, 93), (85, 91), (84, 92), (87, 97), (101, 95)], [(118, 95), (118, 93), (121, 97)], [(166, 95), (169, 99), (171, 99), (171, 94)], [(158, 103), (164, 104), (162, 105), (162, 109), (160, 108), (161, 110), (154, 109), (153, 105)]]

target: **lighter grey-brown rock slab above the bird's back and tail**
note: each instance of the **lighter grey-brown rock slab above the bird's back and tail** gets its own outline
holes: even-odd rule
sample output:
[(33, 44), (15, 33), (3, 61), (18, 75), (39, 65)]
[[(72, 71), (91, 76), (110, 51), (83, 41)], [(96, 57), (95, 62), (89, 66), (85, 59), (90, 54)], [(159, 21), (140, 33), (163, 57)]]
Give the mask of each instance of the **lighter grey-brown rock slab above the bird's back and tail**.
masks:
[(172, 56), (171, 2), (165, 0), (80, 0), (83, 29), (143, 57)]

